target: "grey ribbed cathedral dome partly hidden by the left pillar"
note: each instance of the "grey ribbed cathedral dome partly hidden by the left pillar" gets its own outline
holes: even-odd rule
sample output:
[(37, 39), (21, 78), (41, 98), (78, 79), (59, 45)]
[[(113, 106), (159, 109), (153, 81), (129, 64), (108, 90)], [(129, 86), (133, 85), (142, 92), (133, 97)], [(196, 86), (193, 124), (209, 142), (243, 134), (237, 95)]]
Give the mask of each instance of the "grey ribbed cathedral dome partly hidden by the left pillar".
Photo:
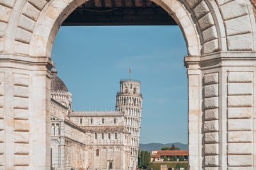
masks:
[(68, 89), (63, 81), (57, 76), (57, 70), (55, 68), (52, 69), (52, 79), (51, 79), (51, 91), (61, 91), (68, 92)]

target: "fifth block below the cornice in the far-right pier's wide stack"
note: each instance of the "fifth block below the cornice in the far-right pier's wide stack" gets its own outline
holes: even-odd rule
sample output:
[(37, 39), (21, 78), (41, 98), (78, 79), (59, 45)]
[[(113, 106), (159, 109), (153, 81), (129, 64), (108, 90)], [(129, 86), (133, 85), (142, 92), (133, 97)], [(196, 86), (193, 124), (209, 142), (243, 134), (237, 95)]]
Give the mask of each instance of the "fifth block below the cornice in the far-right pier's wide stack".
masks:
[(229, 131), (243, 131), (243, 130), (252, 130), (252, 119), (233, 119), (228, 120)]

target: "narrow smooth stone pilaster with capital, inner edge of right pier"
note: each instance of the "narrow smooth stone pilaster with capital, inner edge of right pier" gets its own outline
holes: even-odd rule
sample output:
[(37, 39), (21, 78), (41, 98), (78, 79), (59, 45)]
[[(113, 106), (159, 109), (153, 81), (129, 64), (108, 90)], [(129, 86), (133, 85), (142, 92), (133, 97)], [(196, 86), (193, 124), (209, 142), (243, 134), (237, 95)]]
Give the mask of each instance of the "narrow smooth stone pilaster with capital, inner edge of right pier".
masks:
[(189, 169), (202, 167), (202, 72), (198, 56), (185, 56), (188, 69), (188, 148)]

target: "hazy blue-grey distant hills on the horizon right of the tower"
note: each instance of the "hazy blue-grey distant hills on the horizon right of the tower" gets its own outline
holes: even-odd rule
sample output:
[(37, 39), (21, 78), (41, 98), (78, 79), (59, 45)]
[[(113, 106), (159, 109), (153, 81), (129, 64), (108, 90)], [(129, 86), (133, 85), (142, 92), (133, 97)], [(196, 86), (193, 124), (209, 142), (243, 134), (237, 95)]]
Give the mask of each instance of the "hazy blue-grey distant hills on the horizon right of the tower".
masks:
[(147, 144), (140, 144), (140, 150), (147, 150), (147, 151), (152, 151), (152, 150), (161, 150), (164, 146), (172, 146), (174, 144), (175, 147), (180, 148), (180, 150), (188, 150), (188, 144), (183, 144), (183, 143), (147, 143)]

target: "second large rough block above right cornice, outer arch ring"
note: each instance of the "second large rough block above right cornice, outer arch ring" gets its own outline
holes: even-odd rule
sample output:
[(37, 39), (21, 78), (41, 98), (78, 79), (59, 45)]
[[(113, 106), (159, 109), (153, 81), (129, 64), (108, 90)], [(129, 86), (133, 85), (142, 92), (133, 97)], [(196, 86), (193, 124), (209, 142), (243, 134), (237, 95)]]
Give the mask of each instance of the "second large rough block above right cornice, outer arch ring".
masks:
[[(252, 32), (250, 18), (248, 15), (231, 20), (226, 20), (224, 23), (226, 27), (227, 36)], [(237, 26), (237, 23), (239, 23), (239, 27)]]

